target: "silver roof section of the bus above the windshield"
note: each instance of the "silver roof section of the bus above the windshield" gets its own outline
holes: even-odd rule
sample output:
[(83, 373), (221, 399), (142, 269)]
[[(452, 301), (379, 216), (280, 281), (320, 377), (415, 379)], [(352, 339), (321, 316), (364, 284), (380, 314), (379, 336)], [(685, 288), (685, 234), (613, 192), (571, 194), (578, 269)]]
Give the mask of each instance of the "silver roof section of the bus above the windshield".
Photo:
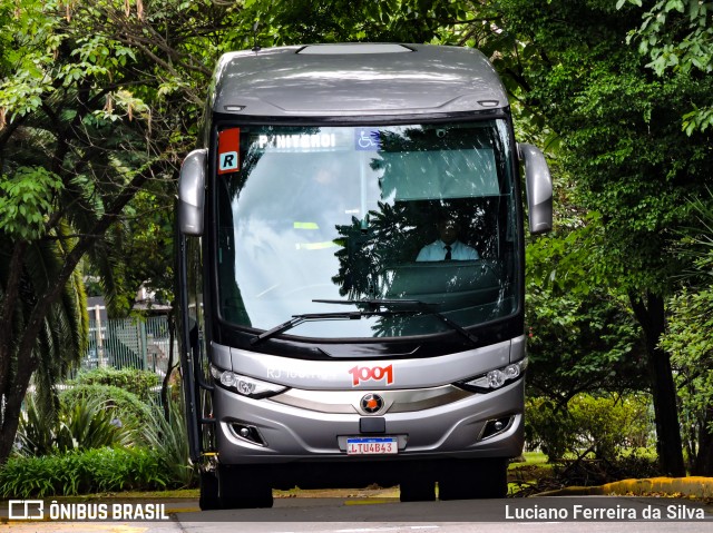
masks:
[(225, 53), (213, 111), (253, 117), (451, 113), (506, 108), (505, 88), (478, 50), (343, 43)]

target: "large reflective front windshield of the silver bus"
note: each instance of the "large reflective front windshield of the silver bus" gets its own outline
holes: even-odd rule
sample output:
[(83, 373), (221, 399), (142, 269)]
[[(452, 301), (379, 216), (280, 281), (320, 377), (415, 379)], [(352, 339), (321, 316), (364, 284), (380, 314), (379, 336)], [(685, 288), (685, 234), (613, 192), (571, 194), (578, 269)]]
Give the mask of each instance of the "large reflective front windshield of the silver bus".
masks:
[[(521, 229), (506, 120), (224, 125), (217, 137), (223, 320), (270, 330), (294, 315), (324, 314), (287, 334), (381, 338), (439, 334), (449, 322), (466, 328), (519, 308)], [(329, 319), (363, 309), (349, 302), (364, 299), (423, 303), (440, 318), (392, 306)]]

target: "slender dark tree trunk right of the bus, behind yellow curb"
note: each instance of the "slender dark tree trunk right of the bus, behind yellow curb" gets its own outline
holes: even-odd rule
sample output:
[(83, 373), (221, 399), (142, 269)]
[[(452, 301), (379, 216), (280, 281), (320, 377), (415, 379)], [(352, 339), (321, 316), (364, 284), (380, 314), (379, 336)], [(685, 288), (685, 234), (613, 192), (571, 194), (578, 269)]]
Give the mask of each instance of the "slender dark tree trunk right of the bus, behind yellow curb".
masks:
[(644, 302), (639, 296), (629, 294), (634, 314), (644, 329), (646, 342), (656, 415), (658, 463), (664, 475), (683, 477), (686, 475), (686, 470), (683, 463), (683, 443), (681, 441), (676, 388), (671, 372), (671, 356), (658, 347), (658, 339), (665, 327), (664, 300), (661, 296), (648, 292), (645, 298)]

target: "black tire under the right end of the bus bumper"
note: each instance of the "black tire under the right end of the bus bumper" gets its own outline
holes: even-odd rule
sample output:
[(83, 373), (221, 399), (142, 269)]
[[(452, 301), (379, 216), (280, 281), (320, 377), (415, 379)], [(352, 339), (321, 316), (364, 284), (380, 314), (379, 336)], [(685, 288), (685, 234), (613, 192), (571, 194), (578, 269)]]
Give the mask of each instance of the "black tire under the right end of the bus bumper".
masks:
[(505, 497), (508, 493), (508, 460), (459, 460), (443, 468), (438, 483), (439, 500)]

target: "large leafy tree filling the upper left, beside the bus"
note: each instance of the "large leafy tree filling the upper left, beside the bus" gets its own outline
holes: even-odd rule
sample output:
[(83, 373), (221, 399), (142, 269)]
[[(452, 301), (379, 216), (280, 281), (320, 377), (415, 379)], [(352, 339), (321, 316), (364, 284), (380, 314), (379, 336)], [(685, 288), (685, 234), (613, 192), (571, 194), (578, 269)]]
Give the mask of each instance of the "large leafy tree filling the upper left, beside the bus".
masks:
[(82, 307), (77, 265), (88, 256), (110, 285), (108, 231), (139, 190), (173, 184), (226, 10), (0, 2), (0, 464), (31, 376), (51, 395), (81, 353), (86, 316), (69, 307)]

